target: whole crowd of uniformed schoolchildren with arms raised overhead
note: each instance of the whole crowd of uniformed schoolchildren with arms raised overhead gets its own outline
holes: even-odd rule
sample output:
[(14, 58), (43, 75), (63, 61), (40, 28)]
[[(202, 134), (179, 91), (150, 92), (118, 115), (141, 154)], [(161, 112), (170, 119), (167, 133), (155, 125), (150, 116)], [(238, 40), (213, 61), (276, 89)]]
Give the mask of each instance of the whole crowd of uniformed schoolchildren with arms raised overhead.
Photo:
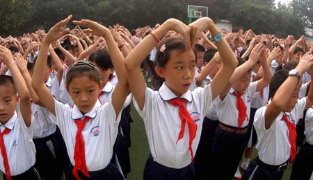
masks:
[(126, 179), (131, 101), (151, 153), (143, 179), (312, 176), (305, 37), (228, 33), (207, 17), (64, 29), (71, 19), (0, 37), (3, 179)]

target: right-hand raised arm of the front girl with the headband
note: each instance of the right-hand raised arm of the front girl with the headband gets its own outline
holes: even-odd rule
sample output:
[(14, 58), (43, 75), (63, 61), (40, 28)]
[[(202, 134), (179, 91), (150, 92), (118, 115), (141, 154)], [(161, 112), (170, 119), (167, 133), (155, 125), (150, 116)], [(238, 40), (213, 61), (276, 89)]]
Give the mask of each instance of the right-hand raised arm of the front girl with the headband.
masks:
[(129, 84), (126, 78), (126, 70), (124, 66), (124, 57), (118, 46), (116, 46), (113, 36), (108, 28), (98, 24), (95, 21), (83, 19), (81, 21), (73, 21), (74, 24), (79, 26), (87, 26), (92, 30), (93, 35), (98, 35), (106, 39), (108, 44), (108, 51), (110, 53), (112, 63), (116, 74), (118, 75), (118, 83), (115, 85), (115, 89), (112, 95), (112, 105), (115, 109), (116, 116), (120, 114), (125, 99), (129, 94)]

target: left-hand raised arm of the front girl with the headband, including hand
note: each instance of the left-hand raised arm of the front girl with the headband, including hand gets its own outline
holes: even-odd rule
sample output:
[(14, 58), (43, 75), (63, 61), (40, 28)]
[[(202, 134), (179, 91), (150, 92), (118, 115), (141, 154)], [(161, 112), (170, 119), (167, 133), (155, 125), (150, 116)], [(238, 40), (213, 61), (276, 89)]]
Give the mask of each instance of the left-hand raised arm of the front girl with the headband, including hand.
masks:
[(45, 85), (45, 69), (47, 67), (47, 53), (49, 50), (49, 45), (61, 38), (63, 35), (68, 33), (70, 30), (67, 28), (63, 30), (65, 24), (70, 21), (72, 15), (68, 16), (66, 19), (58, 22), (54, 25), (45, 38), (42, 40), (42, 45), (37, 57), (37, 62), (35, 64), (35, 68), (33, 70), (33, 80), (32, 85), (33, 89), (37, 93), (41, 102), (52, 114), (56, 115), (55, 106), (54, 106), (54, 97), (51, 95), (49, 89)]

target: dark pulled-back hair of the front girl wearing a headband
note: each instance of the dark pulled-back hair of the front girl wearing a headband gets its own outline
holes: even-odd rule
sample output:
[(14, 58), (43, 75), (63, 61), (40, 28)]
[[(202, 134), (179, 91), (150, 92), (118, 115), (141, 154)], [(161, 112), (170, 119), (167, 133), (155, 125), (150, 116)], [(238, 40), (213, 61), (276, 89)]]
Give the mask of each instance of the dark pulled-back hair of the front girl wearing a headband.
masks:
[(97, 82), (100, 84), (100, 71), (97, 67), (91, 63), (86, 61), (79, 61), (72, 64), (66, 73), (65, 83), (67, 87), (70, 85), (70, 82), (74, 78), (81, 78), (83, 76), (87, 76), (90, 80)]

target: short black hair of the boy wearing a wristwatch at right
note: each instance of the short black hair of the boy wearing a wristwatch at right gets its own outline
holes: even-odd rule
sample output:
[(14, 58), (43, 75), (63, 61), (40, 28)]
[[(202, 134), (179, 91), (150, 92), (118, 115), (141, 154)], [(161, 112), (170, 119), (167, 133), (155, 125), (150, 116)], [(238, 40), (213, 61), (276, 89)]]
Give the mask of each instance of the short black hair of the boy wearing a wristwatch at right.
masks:
[(282, 83), (287, 80), (288, 74), (289, 71), (287, 69), (280, 69), (273, 74), (271, 82), (269, 84), (269, 98), (274, 97), (280, 85), (282, 85)]

